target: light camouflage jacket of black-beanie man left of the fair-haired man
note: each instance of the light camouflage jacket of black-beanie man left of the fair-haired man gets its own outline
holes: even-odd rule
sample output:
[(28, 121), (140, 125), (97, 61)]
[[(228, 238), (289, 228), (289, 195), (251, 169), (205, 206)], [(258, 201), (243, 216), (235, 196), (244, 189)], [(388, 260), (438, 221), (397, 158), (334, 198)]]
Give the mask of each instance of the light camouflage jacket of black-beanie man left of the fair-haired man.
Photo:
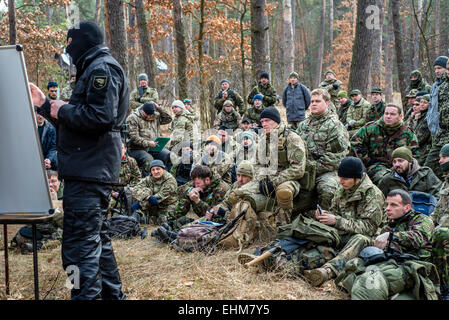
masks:
[(287, 181), (299, 180), (304, 175), (306, 155), (306, 146), (301, 136), (286, 125), (279, 124), (269, 134), (262, 131), (257, 144), (257, 164), (254, 167), (256, 179), (269, 176), (276, 187)]

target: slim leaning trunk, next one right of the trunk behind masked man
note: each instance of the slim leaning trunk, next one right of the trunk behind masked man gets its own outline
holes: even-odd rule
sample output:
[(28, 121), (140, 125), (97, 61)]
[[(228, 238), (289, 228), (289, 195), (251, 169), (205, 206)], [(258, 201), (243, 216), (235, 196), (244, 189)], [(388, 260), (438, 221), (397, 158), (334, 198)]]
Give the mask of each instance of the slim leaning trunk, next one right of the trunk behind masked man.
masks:
[[(110, 0), (108, 0), (110, 1)], [(153, 46), (151, 43), (150, 32), (148, 31), (147, 20), (145, 18), (145, 6), (143, 0), (136, 0), (136, 18), (137, 28), (139, 29), (140, 45), (142, 47), (143, 64), (145, 66), (145, 72), (148, 75), (148, 85), (155, 87), (156, 83), (155, 70), (154, 70), (154, 58), (153, 58)]]

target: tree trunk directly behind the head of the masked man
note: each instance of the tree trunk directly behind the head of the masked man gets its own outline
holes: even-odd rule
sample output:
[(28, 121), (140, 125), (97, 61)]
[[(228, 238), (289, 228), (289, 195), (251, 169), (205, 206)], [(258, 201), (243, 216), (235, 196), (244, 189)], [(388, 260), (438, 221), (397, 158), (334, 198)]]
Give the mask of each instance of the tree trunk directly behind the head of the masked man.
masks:
[[(125, 15), (123, 0), (108, 0), (105, 11), (108, 11), (108, 24), (111, 55), (120, 63), (125, 74), (128, 74), (128, 56), (126, 48)], [(113, 34), (111, 34), (113, 30)]]

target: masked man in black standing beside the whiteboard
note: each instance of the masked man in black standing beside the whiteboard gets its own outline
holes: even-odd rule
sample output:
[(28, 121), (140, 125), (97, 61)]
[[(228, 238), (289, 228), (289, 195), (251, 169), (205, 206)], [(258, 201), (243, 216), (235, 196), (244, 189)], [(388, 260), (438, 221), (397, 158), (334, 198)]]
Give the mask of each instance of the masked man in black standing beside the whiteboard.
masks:
[(79, 270), (73, 300), (124, 299), (106, 214), (120, 171), (127, 78), (93, 22), (82, 21), (68, 31), (66, 52), (77, 69), (68, 103), (50, 101), (30, 84), (38, 112), (58, 131), (59, 174), (65, 183), (62, 263), (68, 273)]

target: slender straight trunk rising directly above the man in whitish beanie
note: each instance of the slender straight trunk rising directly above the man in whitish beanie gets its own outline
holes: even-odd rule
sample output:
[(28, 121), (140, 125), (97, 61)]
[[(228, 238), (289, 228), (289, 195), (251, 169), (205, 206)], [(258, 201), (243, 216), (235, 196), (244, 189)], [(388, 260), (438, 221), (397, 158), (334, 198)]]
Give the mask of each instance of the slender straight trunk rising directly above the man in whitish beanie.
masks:
[(175, 24), (176, 52), (178, 57), (178, 88), (179, 98), (187, 98), (187, 49), (182, 23), (182, 8), (180, 0), (173, 0), (173, 18)]

